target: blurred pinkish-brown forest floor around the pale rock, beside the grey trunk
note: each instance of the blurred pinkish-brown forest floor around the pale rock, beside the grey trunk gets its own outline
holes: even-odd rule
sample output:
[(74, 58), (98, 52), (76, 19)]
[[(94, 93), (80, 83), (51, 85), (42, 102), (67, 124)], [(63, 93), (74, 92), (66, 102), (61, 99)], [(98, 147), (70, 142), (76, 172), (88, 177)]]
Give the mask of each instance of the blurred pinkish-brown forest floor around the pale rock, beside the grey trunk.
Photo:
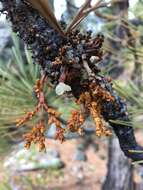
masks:
[[(141, 141), (140, 135), (138, 139)], [(107, 171), (107, 140), (97, 140), (97, 152), (92, 147), (87, 149), (86, 162), (73, 159), (78, 143), (79, 140), (69, 140), (63, 144), (47, 140), (47, 147), (57, 149), (65, 163), (60, 170), (10, 173), (4, 171), (1, 160), (0, 184), (5, 185), (0, 186), (0, 190), (101, 190)], [(135, 178), (139, 181), (138, 175)]]

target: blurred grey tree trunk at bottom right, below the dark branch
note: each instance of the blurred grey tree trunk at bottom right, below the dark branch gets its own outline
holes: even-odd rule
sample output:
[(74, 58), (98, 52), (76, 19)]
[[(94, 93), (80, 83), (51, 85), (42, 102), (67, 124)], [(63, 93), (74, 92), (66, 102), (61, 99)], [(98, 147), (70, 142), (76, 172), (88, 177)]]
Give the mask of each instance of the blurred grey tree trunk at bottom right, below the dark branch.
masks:
[(133, 166), (122, 153), (117, 138), (109, 140), (108, 170), (102, 190), (134, 190)]

